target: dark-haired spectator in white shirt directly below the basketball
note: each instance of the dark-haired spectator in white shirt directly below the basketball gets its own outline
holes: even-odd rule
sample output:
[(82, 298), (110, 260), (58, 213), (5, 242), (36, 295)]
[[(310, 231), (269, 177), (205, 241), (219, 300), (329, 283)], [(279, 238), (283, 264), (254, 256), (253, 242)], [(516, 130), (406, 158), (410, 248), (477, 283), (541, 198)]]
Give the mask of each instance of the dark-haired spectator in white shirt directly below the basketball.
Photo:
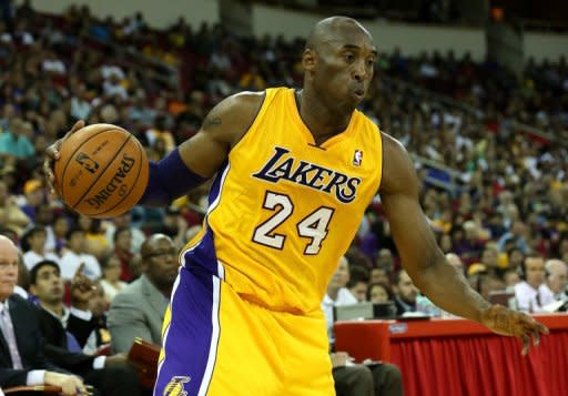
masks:
[(84, 264), (83, 272), (91, 281), (101, 277), (101, 265), (95, 256), (87, 253), (87, 235), (79, 227), (72, 227), (67, 233), (67, 250), (61, 257), (61, 277), (65, 281), (73, 278), (77, 268)]

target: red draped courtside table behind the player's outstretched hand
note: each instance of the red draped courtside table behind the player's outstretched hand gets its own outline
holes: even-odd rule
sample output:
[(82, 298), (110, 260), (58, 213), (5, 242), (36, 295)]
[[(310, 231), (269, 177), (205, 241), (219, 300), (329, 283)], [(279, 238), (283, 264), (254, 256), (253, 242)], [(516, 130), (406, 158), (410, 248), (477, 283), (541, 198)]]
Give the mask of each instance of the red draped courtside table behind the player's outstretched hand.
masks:
[(528, 356), (466, 319), (337, 322), (335, 348), (396, 364), (406, 396), (567, 396), (568, 315), (534, 316), (550, 335)]

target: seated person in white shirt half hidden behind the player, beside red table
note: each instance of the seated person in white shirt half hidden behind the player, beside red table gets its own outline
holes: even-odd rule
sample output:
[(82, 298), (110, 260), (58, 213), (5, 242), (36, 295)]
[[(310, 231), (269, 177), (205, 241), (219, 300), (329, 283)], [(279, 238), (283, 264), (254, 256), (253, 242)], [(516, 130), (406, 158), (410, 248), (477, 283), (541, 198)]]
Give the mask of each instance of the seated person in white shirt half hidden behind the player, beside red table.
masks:
[[(322, 302), (322, 311), (327, 323), (327, 336), (333, 345), (334, 306), (356, 304), (351, 292), (345, 287), (349, 282), (349, 263), (345, 256), (341, 257), (337, 270), (327, 285), (327, 294)], [(333, 379), (338, 396), (400, 396), (403, 395), (403, 380), (400, 370), (395, 365), (379, 363), (373, 366), (354, 364), (346, 352), (331, 353)]]

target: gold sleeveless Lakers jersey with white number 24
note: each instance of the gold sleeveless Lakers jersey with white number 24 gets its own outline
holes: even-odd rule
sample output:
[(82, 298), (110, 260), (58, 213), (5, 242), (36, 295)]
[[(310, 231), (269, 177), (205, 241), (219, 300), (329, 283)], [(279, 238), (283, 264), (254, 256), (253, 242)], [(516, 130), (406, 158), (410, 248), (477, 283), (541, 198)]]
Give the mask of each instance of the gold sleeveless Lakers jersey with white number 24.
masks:
[(244, 299), (275, 311), (320, 309), (327, 282), (378, 190), (382, 141), (355, 111), (321, 145), (303, 123), (294, 90), (266, 90), (250, 130), (210, 192), (205, 229), (215, 265)]

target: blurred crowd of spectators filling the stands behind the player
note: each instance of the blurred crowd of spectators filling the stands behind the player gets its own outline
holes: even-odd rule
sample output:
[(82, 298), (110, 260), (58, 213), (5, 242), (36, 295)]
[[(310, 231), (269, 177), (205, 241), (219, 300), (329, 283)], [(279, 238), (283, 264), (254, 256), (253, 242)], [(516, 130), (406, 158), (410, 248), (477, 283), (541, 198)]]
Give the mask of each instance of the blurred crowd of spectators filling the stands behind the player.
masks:
[[(83, 263), (82, 273), (101, 284), (110, 304), (144, 273), (144, 241), (160, 233), (180, 248), (206, 209), (205, 186), (168, 209), (135, 207), (108, 221), (68, 210), (47, 191), (41, 164), (45, 146), (74, 121), (122, 125), (158, 160), (191, 138), (223, 98), (300, 87), (303, 44), (237, 38), (221, 26), (191, 27), (183, 17), (155, 30), (142, 14), (100, 20), (88, 7), (57, 16), (28, 2), (12, 10), (0, 22), (0, 231), (21, 246), (21, 286), (28, 287), (26, 270), (43, 260), (58, 263), (68, 284)], [(530, 283), (536, 290), (550, 282), (547, 261), (566, 270), (566, 59), (528, 60), (517, 78), (468, 54), (396, 50), (381, 54), (376, 71), (362, 110), (418, 156), (425, 213), (474, 287), (487, 297), (514, 292), (526, 283), (518, 268), (528, 270), (528, 262), (538, 262), (541, 273)], [(359, 301), (377, 293), (392, 299), (403, 283), (412, 285), (379, 196), (347, 256)], [(566, 297), (566, 274), (562, 282), (555, 298)], [(408, 303), (416, 309), (415, 298)]]

